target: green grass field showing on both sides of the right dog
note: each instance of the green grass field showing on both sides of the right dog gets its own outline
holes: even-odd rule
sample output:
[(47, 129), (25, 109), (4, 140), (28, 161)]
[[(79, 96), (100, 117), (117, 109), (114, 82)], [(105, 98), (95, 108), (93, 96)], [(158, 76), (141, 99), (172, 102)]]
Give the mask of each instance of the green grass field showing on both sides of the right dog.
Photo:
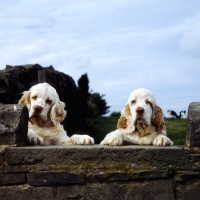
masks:
[[(98, 117), (90, 121), (95, 133), (95, 143), (99, 144), (107, 133), (116, 130), (118, 116)], [(174, 145), (185, 145), (186, 119), (165, 119), (167, 136)]]

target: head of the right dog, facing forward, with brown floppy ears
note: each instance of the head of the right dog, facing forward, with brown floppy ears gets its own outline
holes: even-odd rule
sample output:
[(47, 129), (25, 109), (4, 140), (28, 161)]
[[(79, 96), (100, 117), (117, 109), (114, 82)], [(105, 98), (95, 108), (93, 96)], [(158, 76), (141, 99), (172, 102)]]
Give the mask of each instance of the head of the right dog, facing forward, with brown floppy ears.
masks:
[(154, 125), (165, 133), (162, 109), (157, 105), (154, 95), (145, 88), (134, 90), (121, 112), (117, 127), (125, 132), (134, 132), (136, 124)]

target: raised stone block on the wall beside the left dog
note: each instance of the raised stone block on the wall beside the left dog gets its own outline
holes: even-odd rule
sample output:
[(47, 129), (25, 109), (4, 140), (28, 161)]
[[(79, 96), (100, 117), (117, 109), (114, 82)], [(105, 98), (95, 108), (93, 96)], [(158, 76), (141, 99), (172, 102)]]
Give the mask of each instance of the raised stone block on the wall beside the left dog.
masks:
[(28, 132), (28, 109), (24, 105), (0, 105), (0, 145), (24, 146)]

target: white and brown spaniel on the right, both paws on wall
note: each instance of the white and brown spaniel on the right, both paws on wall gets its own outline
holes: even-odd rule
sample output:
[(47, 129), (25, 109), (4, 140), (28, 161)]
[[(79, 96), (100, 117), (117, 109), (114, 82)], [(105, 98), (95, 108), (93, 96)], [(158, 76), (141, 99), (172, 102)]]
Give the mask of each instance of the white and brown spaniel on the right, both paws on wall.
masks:
[(123, 142), (139, 145), (170, 146), (166, 136), (162, 109), (154, 95), (145, 88), (131, 93), (121, 112), (117, 130), (106, 135), (101, 145), (122, 145)]

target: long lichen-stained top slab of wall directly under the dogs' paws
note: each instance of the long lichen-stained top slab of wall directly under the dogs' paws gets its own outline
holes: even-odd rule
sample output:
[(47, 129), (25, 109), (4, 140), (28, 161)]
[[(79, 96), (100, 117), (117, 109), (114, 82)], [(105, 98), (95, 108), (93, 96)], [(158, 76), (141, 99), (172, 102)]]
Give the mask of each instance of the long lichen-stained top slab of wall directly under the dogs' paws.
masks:
[[(84, 174), (199, 170), (200, 158), (182, 147), (34, 146), (7, 148), (5, 172), (67, 171)], [(17, 164), (17, 165), (16, 165)], [(136, 174), (136, 175), (135, 175)], [(141, 175), (141, 174), (140, 174)], [(147, 175), (147, 174), (146, 174)], [(154, 174), (155, 176), (155, 174)]]

